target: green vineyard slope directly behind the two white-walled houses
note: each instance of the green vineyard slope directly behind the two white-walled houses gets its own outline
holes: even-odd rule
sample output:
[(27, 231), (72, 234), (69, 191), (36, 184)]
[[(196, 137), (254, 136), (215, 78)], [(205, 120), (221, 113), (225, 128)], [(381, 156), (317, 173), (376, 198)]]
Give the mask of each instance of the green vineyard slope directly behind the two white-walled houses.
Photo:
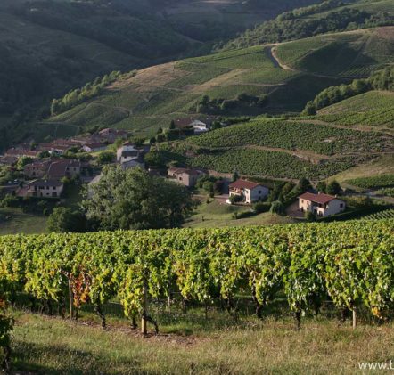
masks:
[(302, 120), (258, 119), (157, 147), (163, 163), (320, 180), (392, 154), (394, 136)]

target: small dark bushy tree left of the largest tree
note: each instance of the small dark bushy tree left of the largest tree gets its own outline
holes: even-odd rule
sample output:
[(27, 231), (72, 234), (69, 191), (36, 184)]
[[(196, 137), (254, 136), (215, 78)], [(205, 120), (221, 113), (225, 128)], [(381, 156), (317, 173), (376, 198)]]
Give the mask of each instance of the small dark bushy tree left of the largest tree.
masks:
[(71, 208), (53, 208), (53, 214), (48, 217), (49, 232), (86, 232), (86, 218)]

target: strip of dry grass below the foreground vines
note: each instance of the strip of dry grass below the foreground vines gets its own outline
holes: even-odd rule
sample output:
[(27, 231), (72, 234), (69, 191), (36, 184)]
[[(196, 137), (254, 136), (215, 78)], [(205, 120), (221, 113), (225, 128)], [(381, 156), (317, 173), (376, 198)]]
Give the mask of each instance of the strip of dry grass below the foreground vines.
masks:
[(208, 325), (188, 336), (171, 333), (174, 327), (167, 326), (167, 333), (148, 338), (123, 324), (112, 321), (103, 331), (95, 323), (18, 313), (13, 369), (45, 374), (350, 374), (359, 371), (360, 362), (394, 359), (392, 323), (351, 330), (338, 327), (335, 319), (308, 318), (296, 331), (291, 317), (283, 317), (220, 329)]

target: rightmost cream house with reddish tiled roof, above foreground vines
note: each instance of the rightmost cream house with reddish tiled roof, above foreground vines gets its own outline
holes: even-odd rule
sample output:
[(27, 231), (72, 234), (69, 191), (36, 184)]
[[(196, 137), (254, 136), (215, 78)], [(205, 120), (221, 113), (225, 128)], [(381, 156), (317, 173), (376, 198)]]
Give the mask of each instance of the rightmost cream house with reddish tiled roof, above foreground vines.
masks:
[(299, 197), (299, 208), (302, 212), (313, 212), (316, 216), (331, 216), (339, 214), (346, 208), (344, 200), (336, 196), (323, 194), (321, 192), (314, 194), (305, 192)]

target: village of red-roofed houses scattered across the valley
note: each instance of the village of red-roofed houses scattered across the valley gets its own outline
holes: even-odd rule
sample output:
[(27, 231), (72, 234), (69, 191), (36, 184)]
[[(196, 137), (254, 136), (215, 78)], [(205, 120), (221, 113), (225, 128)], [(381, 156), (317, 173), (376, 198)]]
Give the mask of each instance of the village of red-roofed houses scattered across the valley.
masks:
[[(169, 131), (197, 135), (209, 131), (214, 121), (215, 118), (208, 117), (177, 118), (171, 122)], [(294, 219), (304, 219), (307, 213), (310, 213), (309, 217), (317, 218), (334, 216), (346, 209), (346, 202), (336, 194), (318, 192), (311, 185), (297, 190), (296, 184), (290, 182), (296, 193), (292, 193), (284, 207), (278, 207), (276, 200), (281, 193), (272, 183), (251, 181), (253, 178), (250, 180), (247, 176), (241, 178), (236, 172), (234, 175), (218, 174), (200, 168), (174, 166), (174, 163), (165, 169), (152, 168), (145, 163), (151, 147), (150, 143), (141, 140), (135, 142), (125, 130), (112, 128), (46, 143), (15, 145), (0, 157), (0, 167), (8, 172), (6, 176), (10, 176), (2, 183), (0, 197), (20, 200), (21, 205), (27, 199), (67, 204), (70, 197), (65, 189), (70, 183), (89, 188), (100, 181), (104, 165), (118, 165), (122, 169), (140, 167), (151, 175), (180, 183), (191, 190), (200, 203), (207, 197), (209, 201), (210, 197), (217, 201), (218, 206), (250, 208), (239, 215), (234, 212), (235, 219), (267, 211), (287, 214)], [(201, 220), (204, 221), (203, 216)]]

